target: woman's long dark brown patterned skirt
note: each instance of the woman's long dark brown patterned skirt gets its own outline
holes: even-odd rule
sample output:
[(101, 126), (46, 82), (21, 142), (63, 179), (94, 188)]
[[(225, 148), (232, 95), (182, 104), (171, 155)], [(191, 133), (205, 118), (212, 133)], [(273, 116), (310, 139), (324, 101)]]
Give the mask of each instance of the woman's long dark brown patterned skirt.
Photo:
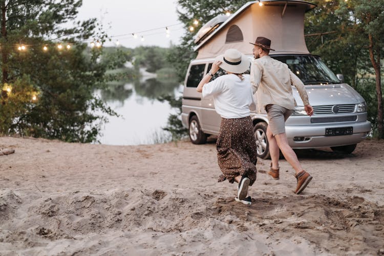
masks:
[(250, 117), (221, 119), (219, 136), (216, 143), (218, 164), (223, 172), (219, 182), (242, 175), (250, 179), (249, 185), (256, 180), (257, 148)]

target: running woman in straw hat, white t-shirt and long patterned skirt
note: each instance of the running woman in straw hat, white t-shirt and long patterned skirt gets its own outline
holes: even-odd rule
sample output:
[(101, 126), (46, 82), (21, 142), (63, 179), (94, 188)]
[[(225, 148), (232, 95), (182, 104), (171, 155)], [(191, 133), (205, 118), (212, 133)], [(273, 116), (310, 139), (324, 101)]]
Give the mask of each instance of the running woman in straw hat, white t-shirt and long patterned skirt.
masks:
[[(236, 49), (228, 49), (218, 56), (210, 71), (200, 81), (197, 91), (203, 98), (214, 98), (215, 110), (221, 115), (219, 136), (217, 139), (218, 164), (223, 172), (219, 182), (228, 179), (238, 182), (238, 195), (235, 198), (245, 204), (251, 204), (247, 197), (248, 185), (256, 180), (257, 149), (250, 118), (250, 108), (255, 107), (249, 75), (249, 59)], [(219, 67), (227, 75), (209, 82)]]

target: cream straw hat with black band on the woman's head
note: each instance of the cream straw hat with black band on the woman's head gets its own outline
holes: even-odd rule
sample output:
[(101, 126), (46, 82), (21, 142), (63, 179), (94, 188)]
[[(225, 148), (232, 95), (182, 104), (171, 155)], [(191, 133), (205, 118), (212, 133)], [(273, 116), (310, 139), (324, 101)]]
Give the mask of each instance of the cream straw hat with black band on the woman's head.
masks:
[(224, 54), (216, 57), (215, 60), (220, 60), (220, 67), (225, 71), (234, 74), (243, 74), (249, 69), (249, 59), (236, 49), (228, 49)]

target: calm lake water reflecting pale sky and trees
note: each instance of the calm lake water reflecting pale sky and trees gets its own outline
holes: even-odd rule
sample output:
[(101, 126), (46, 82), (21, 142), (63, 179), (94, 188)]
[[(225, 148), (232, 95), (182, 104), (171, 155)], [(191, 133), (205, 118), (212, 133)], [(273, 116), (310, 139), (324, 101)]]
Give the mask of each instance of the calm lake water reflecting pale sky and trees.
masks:
[(175, 113), (163, 95), (180, 96), (182, 86), (176, 75), (135, 76), (131, 81), (110, 83), (100, 91), (100, 97), (120, 117), (110, 117), (98, 137), (101, 144), (138, 145), (162, 142), (169, 137), (162, 127), (168, 115)]

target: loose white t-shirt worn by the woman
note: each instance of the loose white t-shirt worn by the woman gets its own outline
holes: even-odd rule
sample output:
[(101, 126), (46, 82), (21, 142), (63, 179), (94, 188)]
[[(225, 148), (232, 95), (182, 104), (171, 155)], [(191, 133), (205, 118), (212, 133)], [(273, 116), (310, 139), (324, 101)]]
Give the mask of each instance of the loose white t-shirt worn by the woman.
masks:
[(254, 105), (249, 75), (228, 74), (204, 85), (203, 98), (214, 97), (215, 110), (222, 118), (245, 118)]

